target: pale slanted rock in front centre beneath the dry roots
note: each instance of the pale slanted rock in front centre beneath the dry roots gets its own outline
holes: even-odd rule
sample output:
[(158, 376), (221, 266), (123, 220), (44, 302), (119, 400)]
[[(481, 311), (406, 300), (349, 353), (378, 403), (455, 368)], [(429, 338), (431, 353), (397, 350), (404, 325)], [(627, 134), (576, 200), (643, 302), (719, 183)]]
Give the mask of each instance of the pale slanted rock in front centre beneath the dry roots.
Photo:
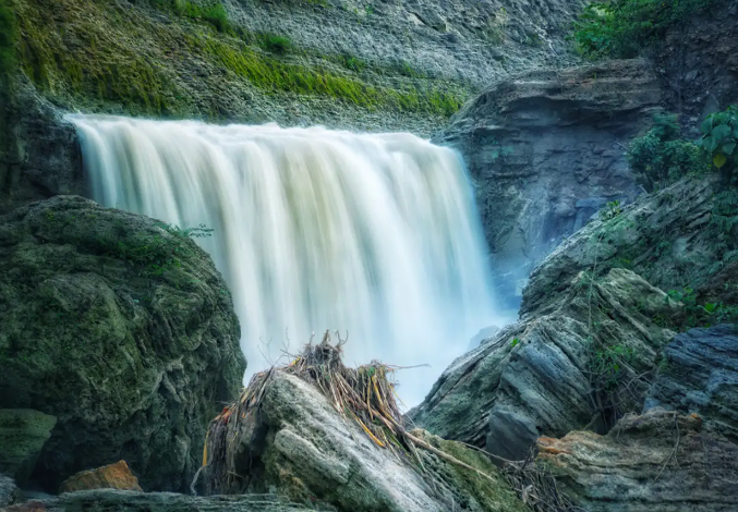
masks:
[(282, 371), (275, 371), (258, 413), (239, 432), (234, 467), (243, 487), (231, 491), (273, 489), (290, 501), (343, 512), (527, 510), (485, 455), (413, 431), (494, 481), (430, 452), (424, 452), (422, 474), (410, 461), (375, 444), (316, 387)]

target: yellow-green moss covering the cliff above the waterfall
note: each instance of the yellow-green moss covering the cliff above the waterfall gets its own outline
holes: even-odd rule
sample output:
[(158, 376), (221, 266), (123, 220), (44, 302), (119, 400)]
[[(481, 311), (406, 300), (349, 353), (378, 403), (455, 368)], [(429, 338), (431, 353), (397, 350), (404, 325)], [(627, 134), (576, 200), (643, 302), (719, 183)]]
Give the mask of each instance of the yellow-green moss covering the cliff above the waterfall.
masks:
[[(363, 73), (368, 65), (355, 57), (314, 54), (294, 48), (283, 35), (249, 33), (229, 21), (220, 3), (136, 3), (0, 0), (7, 13), (16, 14), (0, 11), (0, 33), (14, 34), (7, 20), (17, 20), (16, 44), (5, 42), (10, 48), (4, 54), (14, 56), (57, 105), (134, 115), (233, 117), (252, 87), (269, 95), (330, 98), (367, 110), (438, 117), (458, 111), (465, 98), (461, 87), (416, 76), (409, 66), (413, 76), (392, 86), (367, 82), (403, 73), (389, 68)], [(182, 22), (161, 23), (162, 15), (141, 12), (152, 8)], [(8, 40), (3, 36), (0, 42)]]

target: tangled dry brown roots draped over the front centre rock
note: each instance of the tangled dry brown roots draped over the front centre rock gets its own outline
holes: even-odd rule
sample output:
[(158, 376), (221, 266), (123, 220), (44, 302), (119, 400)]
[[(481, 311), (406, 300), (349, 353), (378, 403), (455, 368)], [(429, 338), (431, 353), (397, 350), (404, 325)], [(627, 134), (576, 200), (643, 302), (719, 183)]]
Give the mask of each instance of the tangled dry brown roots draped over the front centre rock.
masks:
[(203, 454), (203, 466), (208, 466), (209, 470), (210, 491), (228, 492), (237, 479), (243, 478), (235, 471), (239, 438), (243, 425), (258, 413), (275, 371), (294, 375), (317, 387), (339, 414), (346, 419), (355, 422), (372, 441), (389, 449), (398, 458), (414, 459), (418, 465), (422, 466), (415, 451), (415, 447), (420, 447), (452, 464), (492, 479), (479, 470), (407, 432), (396, 402), (395, 387), (388, 379), (388, 376), (399, 367), (376, 361), (359, 368), (346, 367), (341, 361), (343, 343), (339, 337), (339, 342), (331, 345), (330, 334), (326, 331), (319, 344), (306, 344), (302, 354), (288, 366), (273, 367), (256, 374), (240, 399), (225, 407), (210, 423)]

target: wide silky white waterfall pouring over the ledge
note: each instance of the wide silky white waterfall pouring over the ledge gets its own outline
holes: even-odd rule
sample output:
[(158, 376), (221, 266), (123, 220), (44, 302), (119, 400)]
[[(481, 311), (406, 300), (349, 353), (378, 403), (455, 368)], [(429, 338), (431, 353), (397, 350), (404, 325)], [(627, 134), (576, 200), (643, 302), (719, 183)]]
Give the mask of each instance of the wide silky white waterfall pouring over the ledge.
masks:
[(348, 364), (432, 365), (399, 375), (414, 404), (496, 320), (450, 149), (410, 134), (71, 120), (96, 200), (215, 230), (197, 242), (232, 290), (249, 375), (288, 339), (294, 353), (311, 332), (348, 331)]

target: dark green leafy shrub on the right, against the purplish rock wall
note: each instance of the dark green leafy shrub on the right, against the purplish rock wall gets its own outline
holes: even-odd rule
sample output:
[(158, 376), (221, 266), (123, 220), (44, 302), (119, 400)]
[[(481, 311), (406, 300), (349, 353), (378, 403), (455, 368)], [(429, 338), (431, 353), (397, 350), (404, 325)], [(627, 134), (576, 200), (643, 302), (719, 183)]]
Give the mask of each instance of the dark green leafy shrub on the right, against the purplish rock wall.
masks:
[(628, 163), (648, 192), (709, 170), (700, 147), (680, 138), (676, 115), (654, 117), (653, 127), (630, 144)]

